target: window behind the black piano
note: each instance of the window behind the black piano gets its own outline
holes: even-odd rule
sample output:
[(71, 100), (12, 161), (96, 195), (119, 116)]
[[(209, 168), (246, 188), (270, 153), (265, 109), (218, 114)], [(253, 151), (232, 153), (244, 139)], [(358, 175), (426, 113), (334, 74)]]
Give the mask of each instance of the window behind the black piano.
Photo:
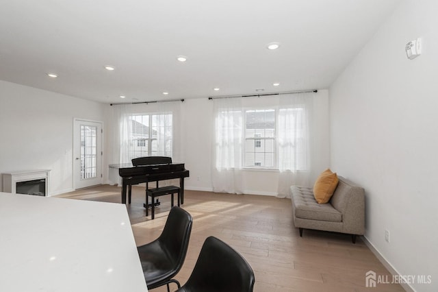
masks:
[(142, 156), (172, 157), (172, 114), (135, 114), (131, 123), (129, 159)]

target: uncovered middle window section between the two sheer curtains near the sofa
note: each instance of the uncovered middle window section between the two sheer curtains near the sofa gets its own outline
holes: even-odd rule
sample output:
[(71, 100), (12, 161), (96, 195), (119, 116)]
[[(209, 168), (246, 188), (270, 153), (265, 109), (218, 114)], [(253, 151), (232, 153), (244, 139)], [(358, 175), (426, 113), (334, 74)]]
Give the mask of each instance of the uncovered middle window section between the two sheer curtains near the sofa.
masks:
[(245, 111), (244, 167), (275, 167), (275, 110)]

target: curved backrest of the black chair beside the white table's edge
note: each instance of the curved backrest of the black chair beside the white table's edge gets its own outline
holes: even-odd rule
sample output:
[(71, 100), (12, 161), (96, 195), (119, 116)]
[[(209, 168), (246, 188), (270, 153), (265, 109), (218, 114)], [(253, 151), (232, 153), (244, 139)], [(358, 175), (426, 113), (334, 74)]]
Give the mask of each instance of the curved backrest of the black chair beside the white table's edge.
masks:
[(183, 266), (187, 254), (193, 218), (183, 208), (174, 206), (170, 209), (166, 225), (157, 239), (170, 257), (175, 261), (175, 274)]

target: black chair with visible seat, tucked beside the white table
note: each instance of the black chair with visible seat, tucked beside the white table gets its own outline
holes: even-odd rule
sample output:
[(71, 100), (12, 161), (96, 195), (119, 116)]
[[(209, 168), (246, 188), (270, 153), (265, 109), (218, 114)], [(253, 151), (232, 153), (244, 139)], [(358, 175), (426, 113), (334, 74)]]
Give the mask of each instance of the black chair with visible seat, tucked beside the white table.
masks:
[(174, 277), (183, 266), (187, 254), (193, 218), (187, 211), (174, 206), (170, 209), (162, 234), (145, 245), (137, 247), (144, 279), (148, 289), (164, 284), (181, 284)]

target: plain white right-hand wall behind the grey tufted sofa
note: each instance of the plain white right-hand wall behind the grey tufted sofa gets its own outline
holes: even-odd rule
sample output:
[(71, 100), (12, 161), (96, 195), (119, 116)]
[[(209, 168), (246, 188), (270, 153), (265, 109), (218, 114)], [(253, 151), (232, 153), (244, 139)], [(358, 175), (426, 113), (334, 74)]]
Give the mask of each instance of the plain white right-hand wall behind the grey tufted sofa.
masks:
[[(417, 291), (438, 291), (437, 12), (402, 1), (330, 88), (331, 168), (365, 188), (365, 236), (387, 262), (433, 276)], [(423, 54), (408, 60), (419, 37)]]

